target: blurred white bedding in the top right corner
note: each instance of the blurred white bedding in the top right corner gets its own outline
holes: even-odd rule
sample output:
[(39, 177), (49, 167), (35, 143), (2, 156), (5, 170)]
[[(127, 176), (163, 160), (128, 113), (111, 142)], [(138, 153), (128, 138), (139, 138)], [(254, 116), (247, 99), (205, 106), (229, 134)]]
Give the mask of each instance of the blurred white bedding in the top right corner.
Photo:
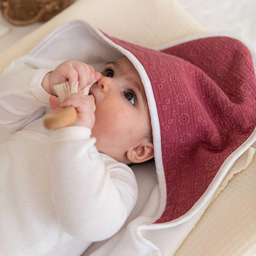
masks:
[(207, 31), (228, 31), (256, 47), (255, 0), (177, 0)]

